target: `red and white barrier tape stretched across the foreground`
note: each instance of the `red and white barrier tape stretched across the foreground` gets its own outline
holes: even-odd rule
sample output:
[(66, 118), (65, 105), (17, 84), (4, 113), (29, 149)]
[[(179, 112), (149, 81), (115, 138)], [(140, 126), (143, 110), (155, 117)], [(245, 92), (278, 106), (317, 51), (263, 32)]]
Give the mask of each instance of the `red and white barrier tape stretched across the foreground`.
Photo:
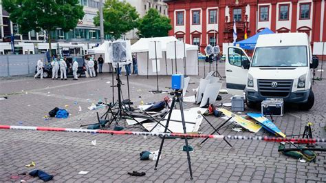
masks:
[(21, 129), (32, 131), (66, 131), (66, 132), (84, 132), (84, 133), (108, 133), (112, 135), (134, 135), (134, 136), (167, 136), (179, 138), (215, 138), (215, 139), (236, 139), (236, 140), (263, 140), (267, 142), (296, 142), (299, 144), (312, 144), (316, 142), (326, 142), (324, 138), (276, 138), (268, 136), (223, 136), (206, 134), (184, 134), (184, 133), (155, 133), (140, 131), (113, 131), (101, 129), (69, 129), (56, 127), (27, 127), (27, 126), (9, 126), (0, 125), (0, 129)]

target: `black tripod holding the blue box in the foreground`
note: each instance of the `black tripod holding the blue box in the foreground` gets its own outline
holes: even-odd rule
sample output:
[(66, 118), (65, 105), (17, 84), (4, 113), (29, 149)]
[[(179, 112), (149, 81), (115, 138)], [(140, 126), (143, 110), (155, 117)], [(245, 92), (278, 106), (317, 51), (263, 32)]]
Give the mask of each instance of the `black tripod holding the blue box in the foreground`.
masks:
[[(183, 109), (183, 106), (182, 106), (182, 89), (175, 90), (172, 94), (174, 94), (174, 96), (173, 96), (172, 104), (171, 104), (171, 107), (170, 107), (169, 116), (168, 116), (168, 119), (166, 121), (166, 126), (165, 126), (165, 129), (164, 129), (164, 133), (166, 133), (166, 131), (169, 128), (169, 122), (170, 122), (170, 119), (171, 119), (173, 107), (175, 106), (175, 102), (178, 101), (179, 105), (180, 105), (182, 127), (184, 129), (184, 133), (186, 134), (186, 122), (184, 121), (184, 109)], [(157, 164), (158, 164), (158, 162), (160, 160), (160, 155), (162, 153), (164, 140), (165, 140), (165, 136), (162, 137), (162, 142), (160, 144), (160, 150), (158, 151), (158, 156), (157, 156), (157, 160), (156, 160), (156, 163), (155, 163), (155, 170), (157, 170)], [(186, 143), (188, 167), (189, 167), (189, 171), (190, 171), (190, 175), (191, 175), (191, 180), (193, 180), (193, 170), (191, 169), (191, 157), (190, 157), (190, 153), (189, 153), (189, 149), (188, 149), (188, 139), (187, 139), (187, 137), (184, 138), (184, 141)]]

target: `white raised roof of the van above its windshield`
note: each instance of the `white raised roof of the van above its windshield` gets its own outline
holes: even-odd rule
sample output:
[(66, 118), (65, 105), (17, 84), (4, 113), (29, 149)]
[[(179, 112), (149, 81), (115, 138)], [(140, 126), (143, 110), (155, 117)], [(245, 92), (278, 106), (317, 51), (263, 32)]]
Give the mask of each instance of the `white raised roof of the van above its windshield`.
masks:
[(257, 41), (257, 47), (309, 45), (309, 39), (305, 33), (281, 33), (261, 35)]

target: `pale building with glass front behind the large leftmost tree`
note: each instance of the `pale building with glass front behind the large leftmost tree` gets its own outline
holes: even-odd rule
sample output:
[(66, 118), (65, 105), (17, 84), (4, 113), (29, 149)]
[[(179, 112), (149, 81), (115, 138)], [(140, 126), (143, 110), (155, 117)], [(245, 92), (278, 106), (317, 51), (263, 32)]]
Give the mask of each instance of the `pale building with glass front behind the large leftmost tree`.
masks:
[[(83, 20), (78, 22), (74, 30), (63, 32), (60, 28), (51, 32), (52, 41), (54, 42), (99, 42), (100, 28), (94, 25), (94, 17), (96, 17), (99, 10), (98, 0), (79, 0), (80, 5), (84, 6), (85, 16)], [(34, 30), (26, 34), (19, 34), (18, 26), (12, 23), (9, 19), (9, 14), (3, 10), (0, 0), (0, 33), (1, 41), (8, 41), (10, 35), (14, 34), (14, 41), (19, 42), (43, 42), (47, 38), (44, 31), (35, 32)]]

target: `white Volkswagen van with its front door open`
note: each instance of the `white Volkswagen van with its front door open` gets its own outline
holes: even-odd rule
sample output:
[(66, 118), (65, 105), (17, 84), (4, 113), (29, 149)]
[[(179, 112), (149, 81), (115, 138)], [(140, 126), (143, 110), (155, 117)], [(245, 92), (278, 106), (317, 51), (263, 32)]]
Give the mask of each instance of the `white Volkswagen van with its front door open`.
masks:
[(259, 36), (251, 61), (241, 47), (228, 47), (226, 87), (230, 94), (244, 91), (248, 107), (265, 98), (283, 98), (309, 110), (314, 105), (316, 67), (318, 59), (312, 59), (307, 34), (265, 34)]

